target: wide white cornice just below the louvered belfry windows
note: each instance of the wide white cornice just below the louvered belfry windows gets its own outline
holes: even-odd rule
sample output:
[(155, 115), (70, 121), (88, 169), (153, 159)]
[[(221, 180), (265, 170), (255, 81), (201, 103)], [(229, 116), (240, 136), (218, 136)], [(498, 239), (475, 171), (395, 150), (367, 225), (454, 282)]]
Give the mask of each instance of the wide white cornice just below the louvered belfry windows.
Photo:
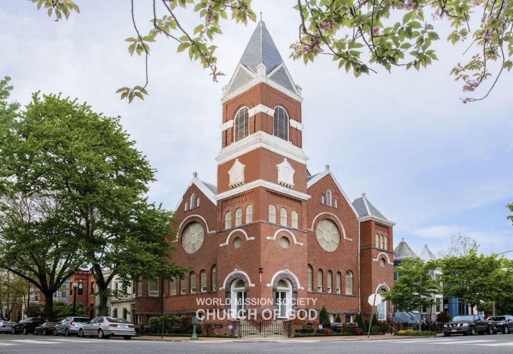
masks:
[(215, 160), (220, 165), (255, 149), (266, 149), (303, 164), (306, 164), (308, 161), (308, 157), (306, 157), (303, 149), (293, 145), (290, 141), (285, 141), (263, 131), (250, 134), (244, 139), (231, 143), (226, 148), (221, 149)]

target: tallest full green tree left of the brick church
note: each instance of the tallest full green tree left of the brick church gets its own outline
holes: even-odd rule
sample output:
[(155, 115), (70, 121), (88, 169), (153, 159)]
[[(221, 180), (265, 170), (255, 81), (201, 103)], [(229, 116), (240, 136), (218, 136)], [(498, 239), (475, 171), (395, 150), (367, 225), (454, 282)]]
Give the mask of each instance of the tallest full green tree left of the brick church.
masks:
[[(0, 178), (13, 181), (16, 192), (56, 200), (66, 222), (54, 226), (66, 227), (73, 235), (67, 239), (80, 242), (74, 249), (91, 264), (101, 316), (115, 275), (124, 285), (183, 276), (183, 267), (166, 262), (176, 235), (173, 213), (147, 201), (155, 171), (119, 117), (95, 113), (76, 99), (35, 93), (14, 127), (16, 135), (2, 143)], [(102, 269), (111, 272), (104, 277)]]

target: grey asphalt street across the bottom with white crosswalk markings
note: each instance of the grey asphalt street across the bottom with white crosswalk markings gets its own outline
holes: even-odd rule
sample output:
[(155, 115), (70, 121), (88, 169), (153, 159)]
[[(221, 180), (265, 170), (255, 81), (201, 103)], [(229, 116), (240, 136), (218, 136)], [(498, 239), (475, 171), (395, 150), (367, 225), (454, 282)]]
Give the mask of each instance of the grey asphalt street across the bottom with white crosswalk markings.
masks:
[(160, 342), (0, 335), (0, 353), (512, 353), (513, 335), (384, 340)]

